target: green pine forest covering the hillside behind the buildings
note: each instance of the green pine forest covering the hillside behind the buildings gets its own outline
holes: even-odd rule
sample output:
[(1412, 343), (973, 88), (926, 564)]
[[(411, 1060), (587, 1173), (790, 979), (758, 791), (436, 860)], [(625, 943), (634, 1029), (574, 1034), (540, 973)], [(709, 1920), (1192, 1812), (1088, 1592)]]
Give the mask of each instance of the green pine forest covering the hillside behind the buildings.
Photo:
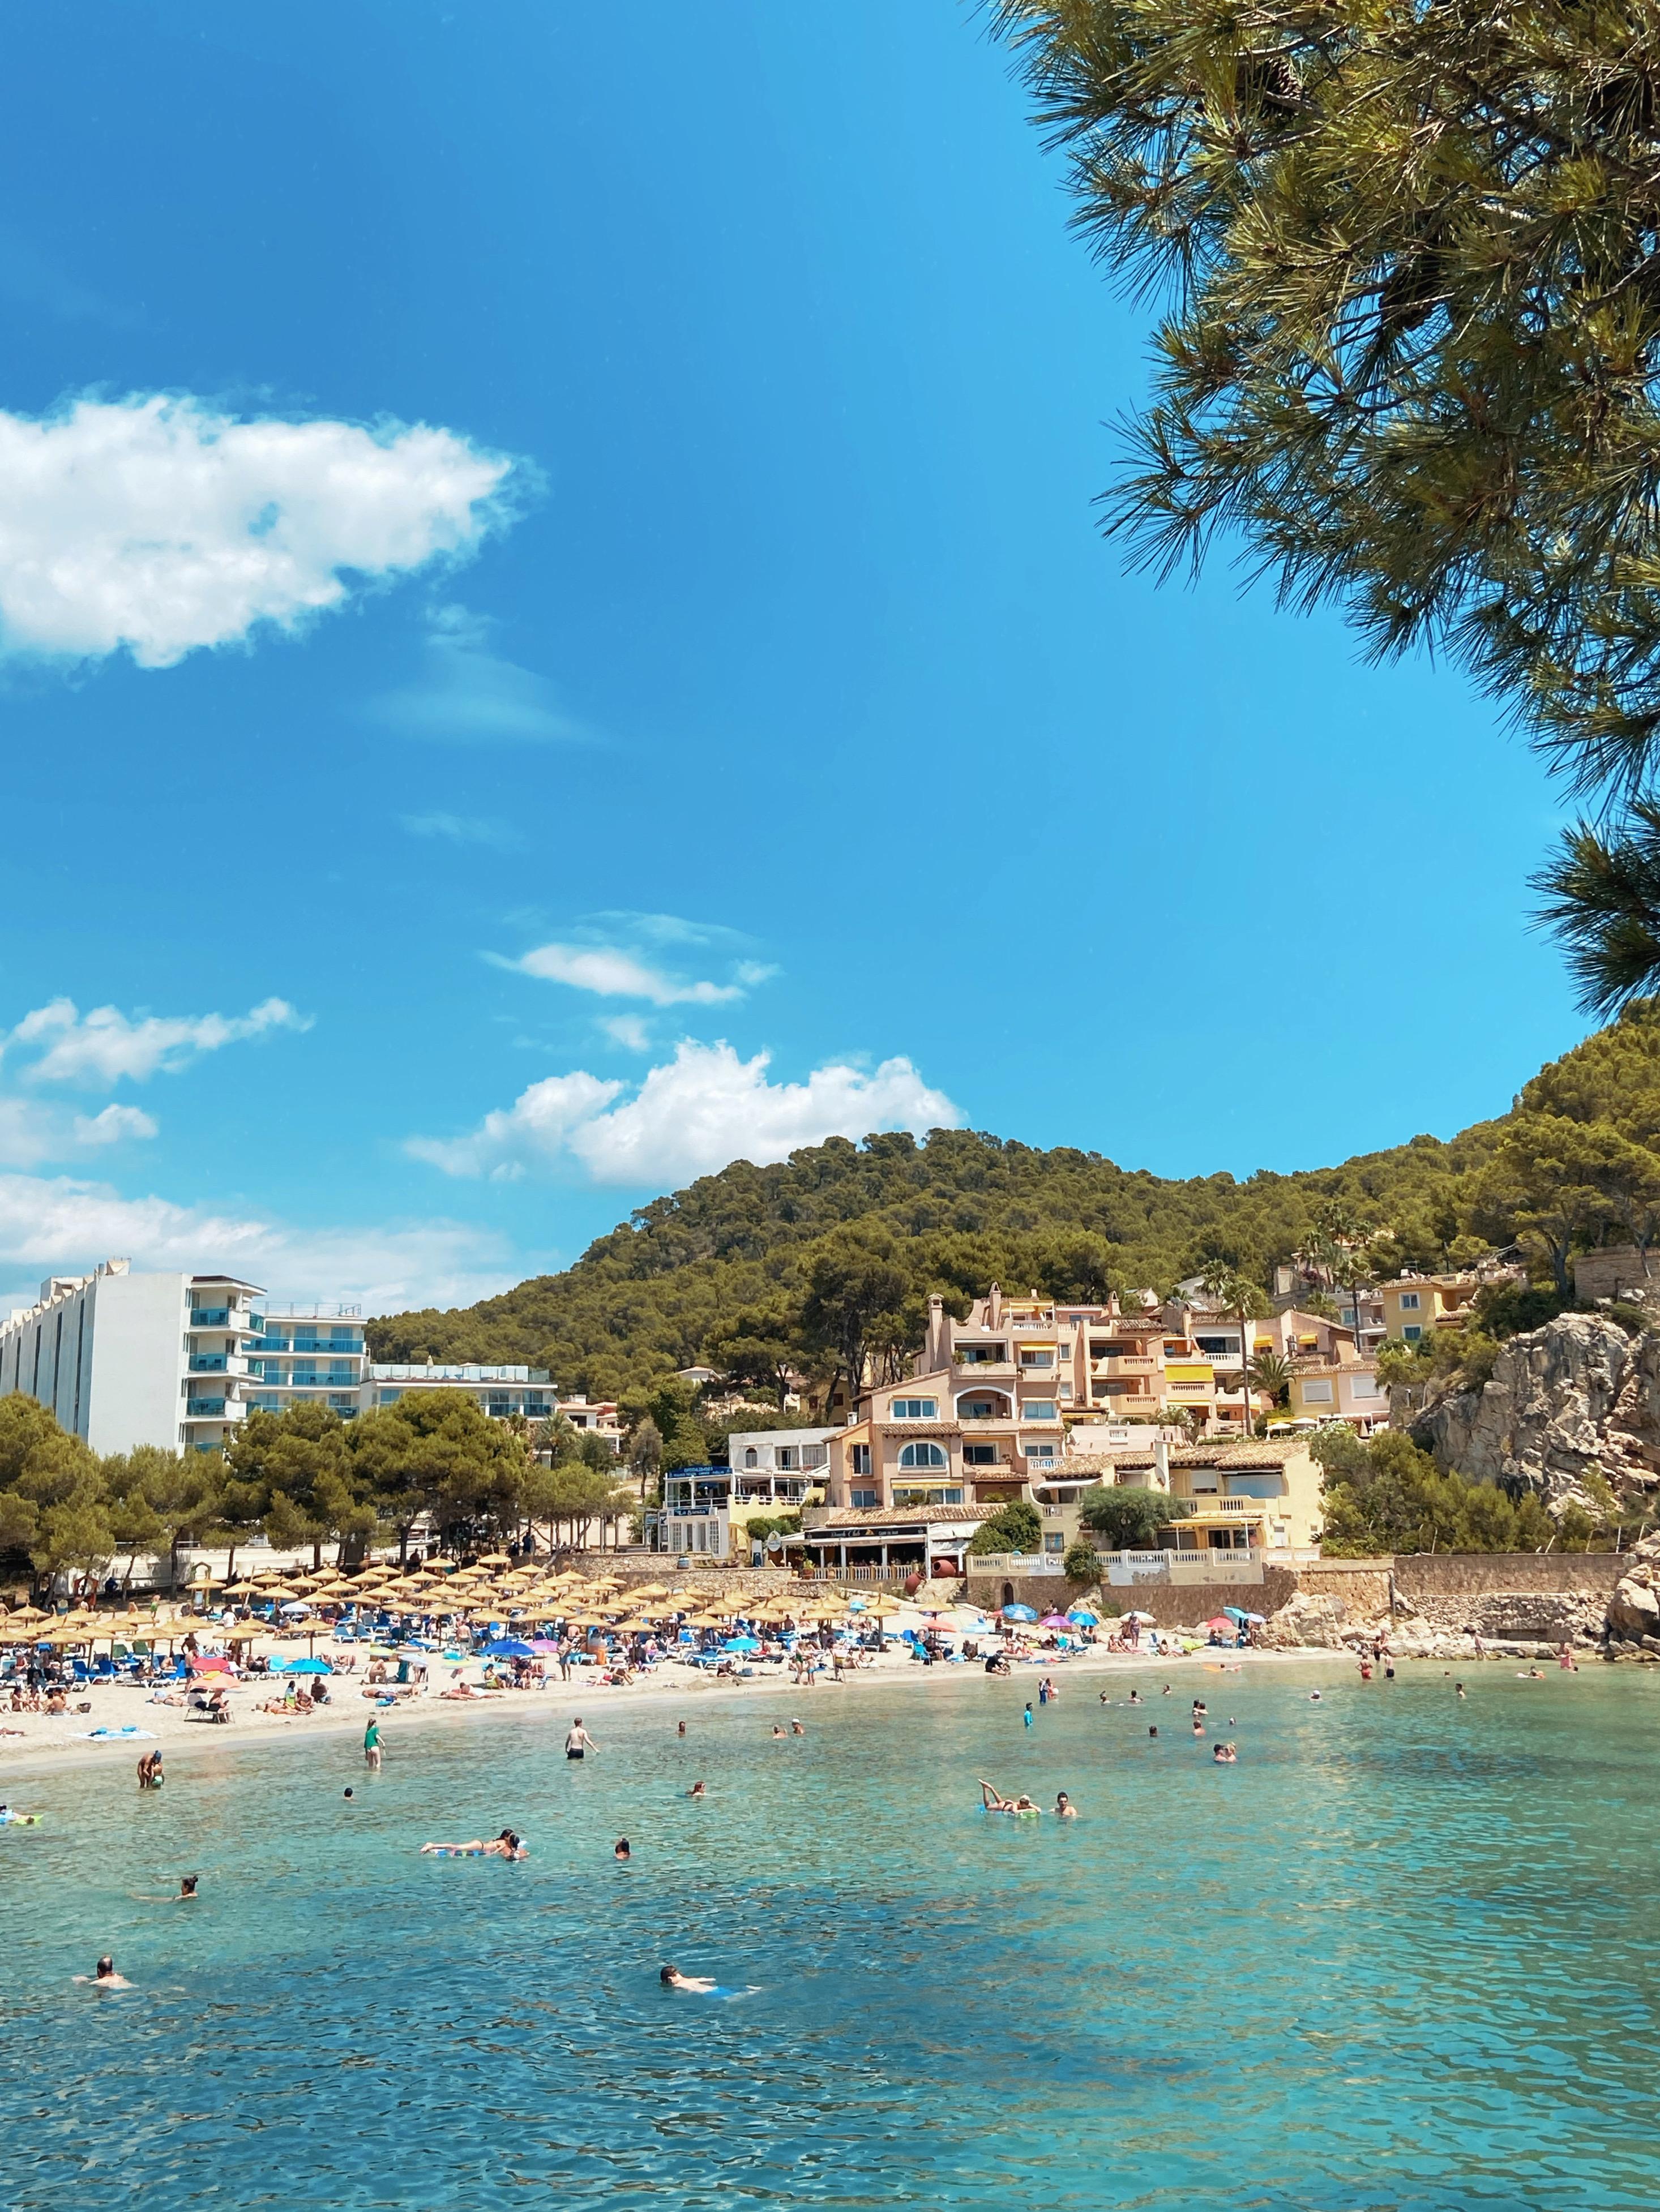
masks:
[(1576, 1250), (1647, 1248), (1660, 1228), (1660, 1000), (1448, 1144), (1171, 1181), (969, 1130), (832, 1137), (653, 1199), (564, 1274), (372, 1321), (370, 1343), (396, 1360), (531, 1360), (564, 1391), (624, 1400), (706, 1363), (766, 1396), (786, 1367), (826, 1376), (850, 1332), (876, 1356), (914, 1349), (930, 1292), (958, 1312), (992, 1281), (1098, 1301), (1164, 1294), (1217, 1263), (1268, 1285), (1332, 1219), (1366, 1230), (1374, 1274), (1521, 1241), (1536, 1279), (1565, 1290)]

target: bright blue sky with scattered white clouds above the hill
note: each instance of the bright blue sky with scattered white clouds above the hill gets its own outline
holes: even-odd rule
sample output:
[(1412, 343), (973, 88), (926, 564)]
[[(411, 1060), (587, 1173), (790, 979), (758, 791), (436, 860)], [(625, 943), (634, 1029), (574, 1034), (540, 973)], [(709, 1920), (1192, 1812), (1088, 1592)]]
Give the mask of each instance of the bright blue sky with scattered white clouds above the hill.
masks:
[(1144, 319), (952, 0), (42, 4), (0, 82), (0, 1303), (454, 1303), (830, 1130), (1498, 1113), (1560, 814), (1096, 526)]

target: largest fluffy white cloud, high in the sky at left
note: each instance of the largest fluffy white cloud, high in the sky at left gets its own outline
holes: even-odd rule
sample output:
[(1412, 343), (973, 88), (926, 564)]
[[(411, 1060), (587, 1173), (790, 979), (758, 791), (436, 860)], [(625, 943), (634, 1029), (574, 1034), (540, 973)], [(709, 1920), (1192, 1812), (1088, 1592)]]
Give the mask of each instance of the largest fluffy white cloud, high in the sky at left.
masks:
[(0, 639), (170, 668), (471, 553), (513, 462), (425, 422), (239, 422), (206, 400), (0, 411)]

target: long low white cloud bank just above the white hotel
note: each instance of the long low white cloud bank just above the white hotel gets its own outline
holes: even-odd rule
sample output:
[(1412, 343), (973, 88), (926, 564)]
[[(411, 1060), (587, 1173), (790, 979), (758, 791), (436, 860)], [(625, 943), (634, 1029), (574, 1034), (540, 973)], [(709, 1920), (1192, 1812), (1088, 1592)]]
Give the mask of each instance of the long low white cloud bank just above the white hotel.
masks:
[(135, 1267), (241, 1274), (279, 1298), (359, 1298), (372, 1314), (465, 1305), (522, 1276), (500, 1239), (458, 1221), (299, 1230), (124, 1199), (73, 1177), (0, 1175), (0, 1265), (82, 1274), (111, 1254)]

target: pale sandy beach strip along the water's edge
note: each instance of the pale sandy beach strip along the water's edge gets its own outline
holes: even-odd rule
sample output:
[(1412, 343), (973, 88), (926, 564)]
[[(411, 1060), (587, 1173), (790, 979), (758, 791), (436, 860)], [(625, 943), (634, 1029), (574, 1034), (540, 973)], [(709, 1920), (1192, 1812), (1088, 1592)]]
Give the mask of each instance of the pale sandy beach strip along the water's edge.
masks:
[[(1058, 1694), (1065, 1699), (1069, 1692), (1076, 1697), (1085, 1679), (1091, 1683), (1089, 1694), (1098, 1697), (1100, 1677), (1109, 1674), (1162, 1674), (1175, 1679), (1177, 1672), (1184, 1677), (1204, 1670), (1215, 1672), (1220, 1666), (1248, 1666), (1255, 1670), (1262, 1666), (1284, 1666), (1288, 1659), (1328, 1659), (1348, 1668), (1355, 1666), (1352, 1655), (1326, 1650), (1195, 1650), (1173, 1659), (1155, 1659), (1147, 1652), (1087, 1650), (1062, 1663), (1056, 1663), (1054, 1655), (1045, 1655), (1042, 1666), (1020, 1663), (1011, 1677), (987, 1677), (974, 1661), (950, 1666), (941, 1674), (936, 1668), (925, 1668), (912, 1659), (905, 1644), (892, 1644), (881, 1657), (872, 1657), (870, 1663), (845, 1672), (841, 1683), (823, 1674), (812, 1688), (792, 1683), (784, 1668), (757, 1668), (755, 1674), (713, 1681), (693, 1668), (668, 1663), (635, 1683), (602, 1683), (591, 1668), (578, 1668), (571, 1681), (560, 1681), (556, 1674), (538, 1690), (478, 1692), (465, 1701), (445, 1701), (438, 1694), (438, 1686), (449, 1679), (454, 1672), (452, 1666), (440, 1668), (434, 1674), (434, 1688), (427, 1688), (423, 1694), (381, 1705), (363, 1694), (361, 1672), (330, 1674), (328, 1708), (305, 1717), (259, 1710), (261, 1701), (281, 1692), (281, 1674), (259, 1674), (248, 1681), (212, 1674), (208, 1683), (224, 1683), (228, 1692), (228, 1723), (190, 1719), (181, 1703), (155, 1703), (148, 1688), (97, 1683), (80, 1690), (71, 1699), (66, 1714), (0, 1710), (0, 1785), (9, 1785), (11, 1776), (40, 1776), (64, 1767), (135, 1765), (146, 1750), (162, 1750), (173, 1770), (186, 1759), (221, 1759), (246, 1745), (270, 1745), (274, 1741), (301, 1743), (308, 1739), (339, 1741), (341, 1736), (359, 1736), (370, 1714), (378, 1714), (387, 1756), (394, 1756), (398, 1736), (407, 1736), (412, 1730), (485, 1728), (502, 1717), (518, 1717), (520, 1721), (562, 1730), (580, 1712), (598, 1734), (604, 1728), (604, 1714), (624, 1705), (726, 1705), (739, 1697), (777, 1699), (781, 1703), (834, 1699), (841, 1703), (848, 1697), (859, 1697), (870, 1686), (896, 1688), (910, 1683), (919, 1692), (925, 1692), (932, 1681), (956, 1677), (969, 1677), (987, 1686), (996, 1683), (1005, 1694), (1027, 1683), (1029, 1697), (1036, 1701), (1038, 1681), (1045, 1672), (1056, 1677)], [(177, 1697), (179, 1692), (170, 1690), (168, 1694)], [(89, 1705), (91, 1710), (80, 1712), (80, 1705)], [(91, 1739), (91, 1730), (95, 1728), (124, 1725), (142, 1728), (148, 1734)]]

